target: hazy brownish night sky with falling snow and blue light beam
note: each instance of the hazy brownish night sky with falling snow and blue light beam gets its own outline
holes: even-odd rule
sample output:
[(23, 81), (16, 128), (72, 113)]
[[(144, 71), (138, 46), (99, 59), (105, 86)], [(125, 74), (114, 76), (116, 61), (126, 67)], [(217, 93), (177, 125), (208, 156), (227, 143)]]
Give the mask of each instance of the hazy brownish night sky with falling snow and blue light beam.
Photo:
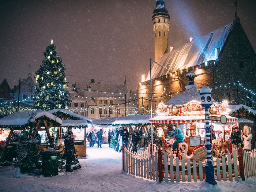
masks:
[[(169, 46), (189, 42), (234, 18), (234, 0), (165, 0)], [(136, 90), (154, 59), (155, 0), (0, 0), (0, 82), (10, 87), (35, 74), (51, 39), (75, 81), (120, 84)], [(238, 0), (237, 15), (256, 50), (256, 1)], [(102, 82), (103, 83), (103, 82)]]

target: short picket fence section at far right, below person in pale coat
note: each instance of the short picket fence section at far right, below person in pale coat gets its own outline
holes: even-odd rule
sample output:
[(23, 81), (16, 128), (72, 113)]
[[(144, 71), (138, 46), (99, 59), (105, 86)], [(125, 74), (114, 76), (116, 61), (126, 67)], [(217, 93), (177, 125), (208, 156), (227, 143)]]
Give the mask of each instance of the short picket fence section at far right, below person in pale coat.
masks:
[(246, 177), (256, 175), (256, 149), (248, 152), (244, 150), (244, 172)]

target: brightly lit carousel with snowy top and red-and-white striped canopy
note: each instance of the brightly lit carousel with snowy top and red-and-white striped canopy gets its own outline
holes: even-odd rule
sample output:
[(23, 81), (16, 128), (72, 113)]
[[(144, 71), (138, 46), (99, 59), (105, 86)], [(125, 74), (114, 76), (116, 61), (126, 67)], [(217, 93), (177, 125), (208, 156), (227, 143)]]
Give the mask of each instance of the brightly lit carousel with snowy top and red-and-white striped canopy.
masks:
[[(212, 134), (217, 140), (223, 142), (229, 140), (232, 125), (238, 122), (238, 118), (228, 115), (226, 102), (218, 103), (212, 99), (212, 106), (209, 109), (211, 116)], [(200, 94), (196, 85), (186, 86), (186, 90), (180, 95), (170, 99), (167, 105), (159, 103), (157, 117), (150, 119), (158, 128), (158, 136), (166, 136), (166, 129), (181, 129), (184, 135), (184, 142), (188, 145), (188, 153), (205, 143), (205, 112), (200, 103)], [(224, 124), (217, 121), (219, 118), (226, 119)], [(216, 119), (216, 120), (214, 120)]]

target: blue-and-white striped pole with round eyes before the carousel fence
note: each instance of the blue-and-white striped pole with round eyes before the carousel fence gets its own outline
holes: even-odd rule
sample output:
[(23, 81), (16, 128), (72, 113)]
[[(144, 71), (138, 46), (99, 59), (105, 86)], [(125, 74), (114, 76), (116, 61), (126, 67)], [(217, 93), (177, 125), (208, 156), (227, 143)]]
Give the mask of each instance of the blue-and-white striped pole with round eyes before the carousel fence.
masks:
[[(200, 90), (200, 97), (201, 97), (201, 105), (203, 106), (205, 110), (205, 116), (209, 116), (209, 108), (212, 105), (212, 98), (211, 98), (211, 89), (210, 87), (204, 86)], [(204, 129), (206, 131), (206, 143), (204, 146), (206, 147), (206, 157), (207, 157), (207, 163), (205, 165), (205, 180), (209, 184), (216, 185), (217, 182), (215, 181), (214, 176), (214, 165), (212, 165), (211, 162), (211, 139), (210, 139), (210, 121), (211, 120), (205, 120)]]

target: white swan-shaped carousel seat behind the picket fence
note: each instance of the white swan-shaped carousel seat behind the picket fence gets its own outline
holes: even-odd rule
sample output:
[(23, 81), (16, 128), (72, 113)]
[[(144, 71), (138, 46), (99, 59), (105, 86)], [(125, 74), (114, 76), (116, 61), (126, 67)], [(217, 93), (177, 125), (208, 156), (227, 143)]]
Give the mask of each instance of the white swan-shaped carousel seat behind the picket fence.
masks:
[(181, 143), (179, 147), (180, 147), (180, 149), (183, 149), (184, 146), (185, 146), (185, 151), (184, 151), (184, 153), (182, 153), (181, 157), (182, 157), (182, 159), (184, 159), (185, 162), (196, 161), (198, 163), (199, 161), (204, 161), (206, 159), (206, 147), (204, 146), (204, 144), (196, 147), (193, 150), (192, 155), (189, 155), (189, 156), (187, 156), (187, 153), (188, 153), (188, 144), (187, 143)]

